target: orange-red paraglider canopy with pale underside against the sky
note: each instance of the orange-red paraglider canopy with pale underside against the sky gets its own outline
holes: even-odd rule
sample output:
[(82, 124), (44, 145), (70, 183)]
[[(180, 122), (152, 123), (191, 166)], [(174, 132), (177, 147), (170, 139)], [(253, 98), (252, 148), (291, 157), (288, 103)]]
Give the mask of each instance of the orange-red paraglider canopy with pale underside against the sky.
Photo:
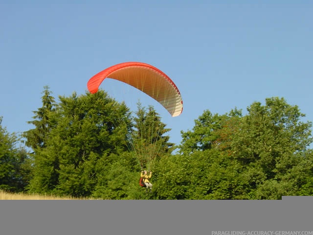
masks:
[(125, 62), (113, 65), (93, 77), (87, 83), (90, 93), (98, 91), (102, 81), (112, 78), (127, 83), (159, 102), (172, 117), (182, 112), (182, 99), (177, 86), (162, 71), (141, 62)]

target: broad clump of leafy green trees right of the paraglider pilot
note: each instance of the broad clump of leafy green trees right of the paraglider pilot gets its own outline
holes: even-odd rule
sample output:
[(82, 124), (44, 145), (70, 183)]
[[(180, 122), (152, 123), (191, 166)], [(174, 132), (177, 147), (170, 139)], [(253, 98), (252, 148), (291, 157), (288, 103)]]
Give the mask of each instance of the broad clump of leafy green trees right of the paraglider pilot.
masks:
[(181, 161), (191, 166), (178, 168), (190, 179), (189, 198), (281, 199), (311, 193), (312, 122), (303, 122), (305, 115), (284, 98), (254, 102), (247, 111), (244, 117), (236, 109), (221, 116), (204, 111), (192, 131), (182, 132)]

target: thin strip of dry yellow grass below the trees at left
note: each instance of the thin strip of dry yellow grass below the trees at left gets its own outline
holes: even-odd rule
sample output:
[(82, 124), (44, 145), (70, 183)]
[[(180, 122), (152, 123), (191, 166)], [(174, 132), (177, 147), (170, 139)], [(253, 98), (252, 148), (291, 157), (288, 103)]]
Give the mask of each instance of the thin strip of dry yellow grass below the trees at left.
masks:
[(57, 197), (52, 195), (9, 193), (0, 191), (0, 200), (90, 200), (90, 199), (74, 197)]

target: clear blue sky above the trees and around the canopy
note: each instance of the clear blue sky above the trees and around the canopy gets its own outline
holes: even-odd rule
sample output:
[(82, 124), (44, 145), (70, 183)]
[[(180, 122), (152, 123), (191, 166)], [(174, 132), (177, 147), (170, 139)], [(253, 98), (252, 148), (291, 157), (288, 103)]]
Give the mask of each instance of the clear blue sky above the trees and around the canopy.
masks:
[(26, 122), (42, 106), (45, 85), (56, 98), (85, 94), (91, 76), (127, 61), (151, 64), (178, 86), (179, 117), (156, 106), (177, 144), (204, 110), (245, 113), (272, 96), (313, 121), (309, 1), (7, 2), (0, 1), (0, 116), (10, 133), (33, 128)]

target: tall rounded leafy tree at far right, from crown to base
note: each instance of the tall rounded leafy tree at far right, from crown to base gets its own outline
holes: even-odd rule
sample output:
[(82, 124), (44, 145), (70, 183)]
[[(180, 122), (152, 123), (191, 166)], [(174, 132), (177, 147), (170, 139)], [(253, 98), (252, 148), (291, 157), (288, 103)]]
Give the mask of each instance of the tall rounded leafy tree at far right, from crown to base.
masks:
[(302, 122), (305, 115), (284, 98), (267, 98), (265, 105), (254, 102), (247, 111), (228, 145), (232, 165), (241, 166), (239, 179), (246, 179), (241, 184), (242, 197), (281, 199), (282, 195), (296, 195), (299, 179), (304, 176), (299, 166), (312, 142), (312, 123)]

